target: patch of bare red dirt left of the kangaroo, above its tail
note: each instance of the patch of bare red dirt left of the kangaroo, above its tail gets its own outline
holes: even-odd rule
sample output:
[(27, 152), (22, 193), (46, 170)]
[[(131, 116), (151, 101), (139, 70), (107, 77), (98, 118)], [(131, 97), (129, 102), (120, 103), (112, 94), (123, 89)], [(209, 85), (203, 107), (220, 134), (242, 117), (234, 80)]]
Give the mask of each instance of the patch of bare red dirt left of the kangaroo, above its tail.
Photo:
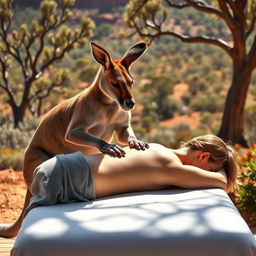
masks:
[(22, 172), (0, 171), (0, 223), (13, 222), (19, 216), (25, 194)]

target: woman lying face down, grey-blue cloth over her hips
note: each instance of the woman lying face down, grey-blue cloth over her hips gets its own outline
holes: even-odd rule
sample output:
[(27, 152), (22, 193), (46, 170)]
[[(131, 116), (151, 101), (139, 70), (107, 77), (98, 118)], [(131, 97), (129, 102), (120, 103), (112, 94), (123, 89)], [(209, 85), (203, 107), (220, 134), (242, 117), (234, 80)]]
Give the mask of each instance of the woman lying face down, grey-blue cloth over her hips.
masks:
[(87, 201), (112, 194), (182, 188), (235, 187), (238, 164), (223, 140), (204, 135), (179, 149), (149, 144), (144, 151), (124, 148), (125, 157), (80, 152), (58, 155), (35, 170), (33, 197), (25, 214), (35, 206)]

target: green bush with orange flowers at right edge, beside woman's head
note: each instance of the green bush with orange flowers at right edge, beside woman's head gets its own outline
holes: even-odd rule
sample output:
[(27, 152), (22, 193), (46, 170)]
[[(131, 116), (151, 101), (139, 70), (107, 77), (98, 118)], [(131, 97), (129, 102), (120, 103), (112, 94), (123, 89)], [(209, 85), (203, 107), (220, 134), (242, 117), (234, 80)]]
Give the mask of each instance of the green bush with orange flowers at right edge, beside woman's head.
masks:
[(236, 193), (236, 204), (243, 212), (253, 214), (256, 212), (256, 145), (245, 152), (240, 159), (240, 165), (242, 171)]

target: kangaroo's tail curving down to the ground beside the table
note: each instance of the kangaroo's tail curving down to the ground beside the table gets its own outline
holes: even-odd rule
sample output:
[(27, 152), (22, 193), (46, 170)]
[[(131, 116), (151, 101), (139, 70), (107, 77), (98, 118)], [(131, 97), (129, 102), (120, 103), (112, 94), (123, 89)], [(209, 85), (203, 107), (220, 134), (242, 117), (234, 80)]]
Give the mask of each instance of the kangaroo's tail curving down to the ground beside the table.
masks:
[(23, 220), (23, 213), (29, 204), (31, 196), (32, 194), (30, 193), (29, 189), (27, 189), (23, 209), (20, 213), (20, 216), (14, 223), (0, 224), (0, 237), (10, 238), (15, 237), (18, 234)]

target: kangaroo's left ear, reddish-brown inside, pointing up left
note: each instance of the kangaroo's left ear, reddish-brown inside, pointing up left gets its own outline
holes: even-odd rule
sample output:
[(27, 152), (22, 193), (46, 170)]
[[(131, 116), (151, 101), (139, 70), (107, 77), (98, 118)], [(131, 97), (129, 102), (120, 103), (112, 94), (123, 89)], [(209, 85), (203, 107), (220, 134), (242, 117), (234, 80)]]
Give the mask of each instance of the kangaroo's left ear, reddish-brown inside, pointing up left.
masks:
[(100, 63), (105, 69), (113, 67), (113, 63), (109, 53), (98, 44), (91, 42), (91, 51), (94, 59)]

